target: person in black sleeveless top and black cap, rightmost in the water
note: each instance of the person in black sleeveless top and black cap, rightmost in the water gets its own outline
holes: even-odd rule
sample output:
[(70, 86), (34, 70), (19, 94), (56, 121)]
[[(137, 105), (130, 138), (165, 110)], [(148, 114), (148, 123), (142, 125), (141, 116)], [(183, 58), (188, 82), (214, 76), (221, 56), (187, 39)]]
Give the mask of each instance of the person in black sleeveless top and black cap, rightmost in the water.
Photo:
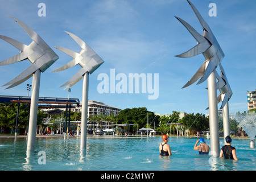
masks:
[(226, 144), (221, 148), (220, 158), (224, 157), (224, 159), (238, 160), (237, 154), (236, 154), (236, 148), (231, 146), (231, 143), (232, 143), (231, 137), (229, 137), (228, 135), (226, 136), (225, 140), (226, 140)]

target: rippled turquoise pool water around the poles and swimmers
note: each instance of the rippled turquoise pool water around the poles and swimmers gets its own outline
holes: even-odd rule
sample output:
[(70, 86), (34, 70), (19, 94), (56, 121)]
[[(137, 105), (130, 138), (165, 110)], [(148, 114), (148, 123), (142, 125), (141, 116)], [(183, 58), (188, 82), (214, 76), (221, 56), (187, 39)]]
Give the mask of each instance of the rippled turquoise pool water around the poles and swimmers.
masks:
[[(170, 137), (172, 156), (160, 157), (160, 137), (95, 137), (87, 139), (84, 155), (80, 139), (36, 138), (34, 154), (27, 158), (25, 138), (0, 138), (0, 170), (85, 170), (85, 171), (169, 171), (169, 170), (256, 170), (256, 150), (249, 139), (233, 139), (238, 161), (199, 155), (193, 150), (198, 138)], [(205, 139), (210, 145), (210, 140)], [(220, 139), (220, 146), (223, 145)]]

